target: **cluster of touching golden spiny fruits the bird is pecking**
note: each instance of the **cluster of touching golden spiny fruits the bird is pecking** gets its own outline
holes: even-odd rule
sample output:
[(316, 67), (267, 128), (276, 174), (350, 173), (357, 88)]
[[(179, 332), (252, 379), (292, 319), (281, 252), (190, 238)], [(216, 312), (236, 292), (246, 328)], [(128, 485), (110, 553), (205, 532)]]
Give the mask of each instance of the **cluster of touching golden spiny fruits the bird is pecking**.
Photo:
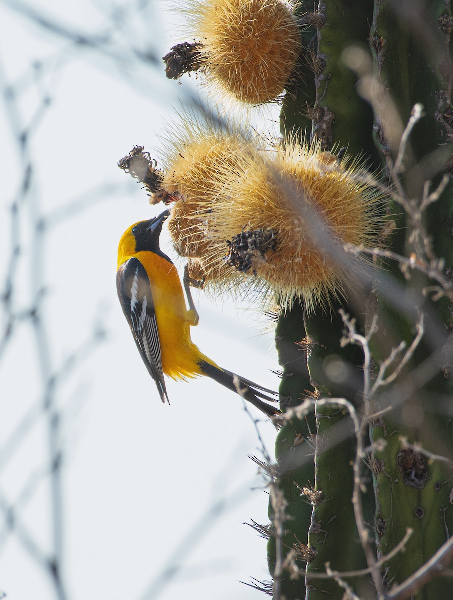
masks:
[[(180, 151), (178, 151), (180, 149)], [(166, 159), (169, 232), (192, 278), (273, 292), (308, 310), (344, 293), (344, 245), (379, 243), (382, 197), (357, 163), (288, 138), (275, 148), (187, 127)]]

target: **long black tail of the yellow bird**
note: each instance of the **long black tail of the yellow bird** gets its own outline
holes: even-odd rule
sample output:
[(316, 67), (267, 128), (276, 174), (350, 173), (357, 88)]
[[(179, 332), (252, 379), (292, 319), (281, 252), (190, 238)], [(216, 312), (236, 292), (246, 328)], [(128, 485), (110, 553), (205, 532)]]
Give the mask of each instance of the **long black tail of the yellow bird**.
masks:
[[(201, 368), (202, 373), (204, 373), (205, 376), (210, 377), (217, 383), (220, 383), (220, 385), (223, 385), (225, 386), (225, 388), (230, 389), (232, 392), (239, 394), (249, 403), (257, 407), (257, 409), (260, 409), (261, 412), (263, 412), (265, 415), (281, 415), (281, 412), (278, 408), (276, 408), (275, 406), (270, 406), (266, 402), (263, 402), (263, 400), (260, 400), (260, 398), (263, 398), (268, 402), (275, 402), (275, 398), (272, 398), (272, 396), (269, 395), (276, 395), (275, 392), (273, 392), (272, 390), (263, 388), (260, 385), (257, 385), (257, 383), (249, 381), (248, 379), (244, 379), (243, 377), (239, 377), (239, 375), (235, 375), (234, 373), (230, 373), (230, 371), (224, 371), (223, 369), (215, 367), (214, 365), (211, 365), (208, 362), (200, 361), (198, 364)], [(237, 377), (237, 379), (239, 380), (240, 391), (238, 391), (234, 383), (234, 377)]]

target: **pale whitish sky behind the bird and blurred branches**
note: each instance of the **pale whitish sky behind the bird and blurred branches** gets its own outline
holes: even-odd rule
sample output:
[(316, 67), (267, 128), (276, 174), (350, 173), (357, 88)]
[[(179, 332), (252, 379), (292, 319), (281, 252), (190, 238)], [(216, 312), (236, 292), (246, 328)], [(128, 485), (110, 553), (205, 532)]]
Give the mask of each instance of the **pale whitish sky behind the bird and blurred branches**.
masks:
[[(117, 161), (138, 144), (159, 161), (165, 124), (208, 96), (165, 79), (177, 25), (160, 0), (0, 0), (8, 600), (246, 600), (257, 592), (239, 581), (269, 578), (266, 542), (243, 523), (267, 523), (248, 456), (272, 455), (273, 426), (207, 379), (169, 381), (161, 404), (115, 290), (121, 234), (162, 209)], [(269, 115), (278, 107), (264, 126), (276, 130)], [(195, 343), (276, 389), (269, 321), (193, 293)]]

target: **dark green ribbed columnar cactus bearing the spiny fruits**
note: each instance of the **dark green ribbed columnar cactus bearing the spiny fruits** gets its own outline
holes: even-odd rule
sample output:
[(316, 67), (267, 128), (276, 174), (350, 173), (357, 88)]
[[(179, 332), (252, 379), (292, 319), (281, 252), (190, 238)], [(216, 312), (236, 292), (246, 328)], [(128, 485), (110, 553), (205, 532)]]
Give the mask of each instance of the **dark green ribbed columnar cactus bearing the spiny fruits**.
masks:
[[(278, 580), (276, 600), (342, 599), (347, 586), (359, 598), (383, 598), (439, 551), (453, 525), (453, 425), (448, 416), (453, 198), (449, 180), (442, 182), (443, 174), (451, 176), (453, 170), (453, 19), (450, 2), (443, 1), (325, 0), (317, 13), (317, 69), (311, 80), (305, 73), (297, 95), (288, 95), (282, 130), (299, 128), (308, 138), (308, 115), (312, 136), (326, 149), (347, 146), (374, 169), (380, 160), (383, 180), (391, 183), (388, 212), (396, 227), (389, 227), (387, 247), (395, 256), (381, 263), (369, 297), (364, 284), (362, 290), (348, 290), (348, 304), (333, 301), (329, 313), (320, 308), (307, 314), (297, 305), (280, 317), (281, 364), (285, 367), (282, 348), (300, 353), (294, 343), (305, 339), (308, 349), (303, 358), (299, 354), (302, 375), (291, 380), (290, 390), (284, 370), (282, 397), (290, 397), (293, 407), (315, 394), (344, 398), (362, 424), (360, 443), (369, 447), (357, 458), (357, 438), (344, 405), (318, 406), (315, 423), (314, 413), (308, 415), (309, 431), (304, 417), (291, 417), (276, 444), (276, 485), (287, 500), (279, 563), (287, 559), (287, 569), (275, 572), (271, 537), (270, 570)], [(379, 84), (374, 88), (371, 76)], [(374, 108), (374, 122), (359, 91)], [(302, 110), (302, 97), (309, 110)], [(416, 104), (422, 104), (425, 116), (415, 115), (402, 154), (401, 137)], [(427, 199), (427, 181), (432, 181), (431, 192), (442, 182), (433, 202)], [(341, 343), (345, 325), (340, 308), (349, 322), (354, 319), (351, 331), (358, 344)], [(377, 323), (373, 331), (371, 322)], [(401, 343), (405, 347), (397, 352)], [(365, 371), (361, 344), (371, 352)], [(340, 377), (335, 376), (338, 371)], [(300, 448), (314, 432), (313, 459)], [(296, 448), (300, 436), (306, 441)], [(354, 490), (363, 513), (360, 532)], [(307, 494), (313, 501), (310, 511)], [(276, 516), (272, 506), (270, 516)], [(377, 563), (402, 541), (403, 551)], [(326, 563), (340, 573), (375, 569), (340, 580), (310, 577), (325, 572)], [(411, 593), (417, 600), (448, 598), (451, 585), (448, 577), (431, 574), (414, 584)]]

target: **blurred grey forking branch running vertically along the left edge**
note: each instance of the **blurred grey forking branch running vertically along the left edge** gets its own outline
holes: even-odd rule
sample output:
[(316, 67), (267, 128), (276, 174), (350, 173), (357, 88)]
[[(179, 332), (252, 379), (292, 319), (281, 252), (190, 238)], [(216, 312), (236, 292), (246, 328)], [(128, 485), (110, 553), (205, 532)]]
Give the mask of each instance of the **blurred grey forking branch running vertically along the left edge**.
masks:
[[(16, 5), (15, 8), (20, 8)], [(44, 71), (36, 71), (37, 77), (43, 77)], [(32, 427), (45, 418), (47, 427), (47, 464), (43, 469), (31, 473), (26, 479), (19, 498), (11, 505), (4, 494), (0, 494), (0, 507), (4, 513), (6, 529), (2, 532), (2, 542), (5, 541), (7, 532), (14, 533), (20, 544), (34, 559), (38, 566), (43, 568), (50, 576), (53, 583), (55, 596), (58, 600), (65, 600), (67, 592), (62, 580), (62, 562), (64, 559), (64, 508), (62, 494), (62, 416), (64, 412), (58, 402), (59, 387), (65, 379), (73, 374), (76, 368), (85, 361), (91, 352), (99, 346), (103, 338), (103, 328), (96, 328), (91, 332), (87, 341), (81, 344), (78, 350), (57, 368), (55, 368), (52, 357), (52, 345), (50, 341), (50, 329), (44, 313), (46, 300), (46, 278), (44, 267), (47, 261), (46, 253), (46, 229), (43, 227), (44, 215), (40, 206), (38, 179), (36, 176), (36, 161), (32, 154), (31, 140), (48, 114), (50, 107), (49, 95), (38, 91), (38, 99), (35, 101), (35, 110), (26, 123), (22, 116), (22, 91), (7, 81), (4, 70), (0, 65), (0, 89), (2, 89), (4, 109), (7, 122), (10, 127), (11, 138), (17, 150), (17, 173), (19, 173), (19, 189), (10, 209), (10, 238), (11, 249), (5, 274), (5, 281), (1, 294), (2, 313), (4, 325), (0, 337), (0, 359), (4, 358), (17, 325), (27, 322), (31, 325), (32, 335), (35, 343), (35, 360), (40, 372), (41, 379), (41, 402), (32, 405), (31, 409), (22, 416), (19, 424), (9, 434), (2, 445), (0, 466), (5, 467), (10, 463), (14, 452), (19, 449), (28, 439)], [(76, 214), (85, 206), (79, 202), (73, 202), (67, 206), (68, 212)], [(64, 210), (56, 211), (53, 223), (56, 225), (64, 218)], [(28, 224), (26, 221), (28, 220)], [(50, 221), (52, 222), (52, 220)], [(22, 247), (25, 239), (24, 232), (31, 231), (27, 235), (27, 251)], [(25, 269), (27, 269), (25, 271)], [(29, 300), (25, 302), (25, 308), (19, 307), (19, 277), (20, 271), (28, 272), (29, 276)], [(43, 551), (34, 541), (25, 523), (20, 520), (20, 511), (35, 496), (38, 484), (46, 478), (50, 486), (50, 535), (52, 538), (50, 556), (44, 556)]]

